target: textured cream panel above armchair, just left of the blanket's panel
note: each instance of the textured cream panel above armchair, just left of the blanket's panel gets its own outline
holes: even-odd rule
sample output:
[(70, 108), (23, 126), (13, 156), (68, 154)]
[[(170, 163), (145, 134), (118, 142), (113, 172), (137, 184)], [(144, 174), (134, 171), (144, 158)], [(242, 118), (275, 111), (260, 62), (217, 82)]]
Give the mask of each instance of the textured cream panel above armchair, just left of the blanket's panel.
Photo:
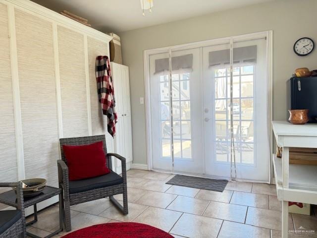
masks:
[(58, 26), (63, 137), (88, 135), (84, 36)]

